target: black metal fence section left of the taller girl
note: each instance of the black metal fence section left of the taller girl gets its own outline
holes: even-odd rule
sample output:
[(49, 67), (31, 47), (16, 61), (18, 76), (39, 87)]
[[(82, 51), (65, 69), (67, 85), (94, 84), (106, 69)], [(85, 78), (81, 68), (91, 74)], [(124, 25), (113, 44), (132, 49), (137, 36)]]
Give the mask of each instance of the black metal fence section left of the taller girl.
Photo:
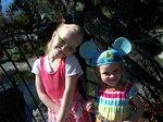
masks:
[[(39, 45), (39, 46), (38, 46)], [(46, 117), (39, 107), (34, 75), (34, 61), (41, 52), (37, 34), (14, 33), (0, 37), (0, 122), (41, 122)]]

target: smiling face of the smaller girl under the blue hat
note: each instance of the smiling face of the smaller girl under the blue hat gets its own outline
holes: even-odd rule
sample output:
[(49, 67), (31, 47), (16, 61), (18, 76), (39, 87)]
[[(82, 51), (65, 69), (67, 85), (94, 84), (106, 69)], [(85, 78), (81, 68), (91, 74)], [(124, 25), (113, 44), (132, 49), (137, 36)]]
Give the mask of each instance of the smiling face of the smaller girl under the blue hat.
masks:
[(115, 87), (122, 80), (122, 66), (120, 63), (112, 63), (98, 66), (101, 81), (110, 87)]

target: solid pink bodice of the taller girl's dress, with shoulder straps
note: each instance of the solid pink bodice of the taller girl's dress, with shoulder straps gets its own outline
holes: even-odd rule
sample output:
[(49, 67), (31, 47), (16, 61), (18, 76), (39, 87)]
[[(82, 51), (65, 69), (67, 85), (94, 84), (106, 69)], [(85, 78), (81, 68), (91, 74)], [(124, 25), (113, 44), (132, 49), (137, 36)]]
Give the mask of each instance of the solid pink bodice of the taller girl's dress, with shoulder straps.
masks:
[(40, 76), (47, 95), (51, 99), (62, 98), (65, 89), (65, 58), (61, 60), (59, 69), (52, 74), (47, 73), (43, 57), (40, 59)]

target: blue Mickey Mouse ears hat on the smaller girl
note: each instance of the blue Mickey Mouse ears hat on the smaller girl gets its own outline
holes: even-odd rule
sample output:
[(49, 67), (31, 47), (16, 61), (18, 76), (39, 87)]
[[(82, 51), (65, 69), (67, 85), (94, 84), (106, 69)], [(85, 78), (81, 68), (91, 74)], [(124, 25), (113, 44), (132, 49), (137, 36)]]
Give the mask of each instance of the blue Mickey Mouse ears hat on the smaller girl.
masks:
[(122, 63), (123, 56), (126, 56), (131, 50), (131, 44), (124, 37), (117, 38), (112, 49), (98, 50), (92, 41), (86, 41), (80, 46), (79, 53), (86, 59), (87, 64), (90, 66)]

